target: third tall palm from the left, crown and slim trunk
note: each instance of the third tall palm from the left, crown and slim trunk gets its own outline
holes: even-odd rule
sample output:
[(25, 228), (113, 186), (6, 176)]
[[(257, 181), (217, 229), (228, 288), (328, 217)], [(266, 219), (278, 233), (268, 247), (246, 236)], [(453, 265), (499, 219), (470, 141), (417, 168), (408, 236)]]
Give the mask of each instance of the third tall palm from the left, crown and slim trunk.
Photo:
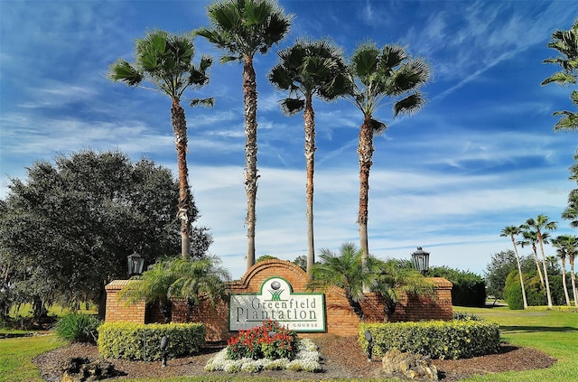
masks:
[(305, 130), (305, 165), (307, 184), (307, 274), (311, 276), (315, 263), (313, 243), (313, 172), (315, 168), (315, 111), (313, 97), (331, 101), (345, 94), (348, 80), (342, 52), (331, 42), (299, 40), (291, 48), (280, 51), (279, 63), (269, 72), (269, 80), (277, 89), (288, 90), (289, 97), (281, 101), (288, 116), (303, 110)]

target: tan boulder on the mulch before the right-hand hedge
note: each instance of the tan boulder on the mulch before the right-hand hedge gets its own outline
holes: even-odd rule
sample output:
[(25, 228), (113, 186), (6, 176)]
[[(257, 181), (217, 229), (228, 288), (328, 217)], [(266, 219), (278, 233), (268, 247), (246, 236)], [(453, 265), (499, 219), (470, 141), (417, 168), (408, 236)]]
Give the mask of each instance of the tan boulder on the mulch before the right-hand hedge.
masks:
[(437, 368), (432, 365), (432, 359), (421, 354), (402, 353), (393, 349), (387, 351), (382, 363), (387, 374), (400, 373), (410, 379), (438, 380)]

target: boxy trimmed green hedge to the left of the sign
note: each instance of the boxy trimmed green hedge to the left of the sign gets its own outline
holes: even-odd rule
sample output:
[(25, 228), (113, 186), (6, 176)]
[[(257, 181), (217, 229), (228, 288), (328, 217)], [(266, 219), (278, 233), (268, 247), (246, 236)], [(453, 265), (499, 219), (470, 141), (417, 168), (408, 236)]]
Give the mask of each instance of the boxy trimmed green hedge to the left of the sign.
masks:
[(104, 358), (160, 360), (163, 336), (169, 340), (169, 358), (186, 356), (199, 351), (205, 341), (205, 326), (201, 323), (107, 322), (98, 327), (98, 351)]

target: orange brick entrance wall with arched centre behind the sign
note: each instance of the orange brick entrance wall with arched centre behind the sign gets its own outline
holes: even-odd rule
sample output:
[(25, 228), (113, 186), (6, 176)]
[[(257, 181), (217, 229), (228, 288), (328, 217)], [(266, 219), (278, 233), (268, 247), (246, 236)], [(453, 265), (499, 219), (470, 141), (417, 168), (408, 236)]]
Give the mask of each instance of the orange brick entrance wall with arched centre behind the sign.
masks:
[[(283, 277), (292, 285), (294, 293), (311, 292), (305, 289), (308, 276), (299, 266), (277, 259), (266, 260), (252, 266), (241, 280), (229, 283), (228, 289), (232, 294), (258, 293), (261, 290), (261, 284), (273, 276)], [(440, 277), (435, 277), (431, 280), (436, 285), (436, 293), (433, 298), (402, 296), (397, 303), (396, 312), (392, 315), (391, 321), (452, 320), (452, 283)], [(108, 290), (107, 285), (107, 293)], [(114, 294), (112, 288), (111, 292), (111, 294)], [(325, 291), (324, 295), (326, 331), (339, 336), (357, 335), (359, 318), (351, 311), (344, 291), (337, 287), (331, 287)], [(110, 320), (114, 321), (130, 321), (119, 320), (119, 318), (127, 317), (132, 319), (133, 315), (127, 312), (115, 311), (132, 310), (133, 306), (141, 309), (139, 304), (126, 307), (124, 303), (120, 303), (122, 306), (119, 306), (117, 303), (110, 301), (114, 298), (112, 295), (107, 294), (107, 321), (109, 321), (109, 317)], [(108, 305), (109, 301), (112, 305)], [(110, 306), (113, 312), (109, 316)], [(383, 299), (378, 294), (367, 293), (365, 299), (361, 302), (366, 321), (383, 322), (383, 306)], [(142, 309), (144, 309), (144, 303), (142, 304)], [(154, 317), (154, 314), (149, 313), (148, 309), (152, 308), (147, 308), (147, 321)], [(185, 301), (175, 300), (172, 306), (172, 321), (203, 322), (207, 328), (206, 340), (208, 341), (228, 340), (228, 338), (237, 334), (236, 332), (228, 331), (228, 302), (219, 301), (211, 304), (208, 299), (201, 297), (198, 305), (188, 306)], [(140, 322), (144, 322), (144, 312)], [(315, 335), (317, 334), (307, 333), (308, 337), (314, 337)]]

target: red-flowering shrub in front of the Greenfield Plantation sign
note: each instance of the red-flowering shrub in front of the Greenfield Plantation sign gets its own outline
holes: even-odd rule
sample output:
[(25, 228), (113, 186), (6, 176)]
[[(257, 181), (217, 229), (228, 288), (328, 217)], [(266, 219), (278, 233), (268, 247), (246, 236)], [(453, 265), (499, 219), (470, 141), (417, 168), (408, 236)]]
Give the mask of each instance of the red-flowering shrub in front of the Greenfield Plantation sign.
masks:
[(297, 334), (275, 321), (264, 321), (228, 340), (228, 359), (294, 359)]

